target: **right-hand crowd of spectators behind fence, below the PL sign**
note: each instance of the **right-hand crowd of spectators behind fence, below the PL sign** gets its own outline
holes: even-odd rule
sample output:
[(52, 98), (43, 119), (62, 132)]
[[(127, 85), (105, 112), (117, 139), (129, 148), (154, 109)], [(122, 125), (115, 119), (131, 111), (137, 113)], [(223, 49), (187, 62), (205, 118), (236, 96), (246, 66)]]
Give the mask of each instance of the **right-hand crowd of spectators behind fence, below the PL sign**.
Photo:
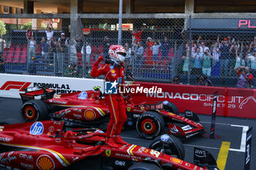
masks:
[(238, 38), (230, 36), (223, 39), (217, 36), (216, 40), (204, 40), (198, 36), (197, 42), (187, 42), (185, 50), (182, 57), (183, 74), (190, 71), (192, 75), (241, 78), (241, 74), (236, 74), (234, 69), (246, 66), (248, 72), (256, 76), (256, 36), (251, 42), (240, 42)]

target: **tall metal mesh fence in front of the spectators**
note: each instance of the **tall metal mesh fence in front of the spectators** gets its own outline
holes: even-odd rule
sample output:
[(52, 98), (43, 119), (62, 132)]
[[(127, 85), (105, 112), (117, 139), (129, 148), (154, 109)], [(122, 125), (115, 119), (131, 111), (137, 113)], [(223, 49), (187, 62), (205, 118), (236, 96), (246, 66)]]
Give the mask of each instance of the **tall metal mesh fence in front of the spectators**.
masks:
[[(70, 36), (69, 18), (31, 20), (37, 23), (5, 26), (0, 39), (5, 72), (90, 77), (94, 61), (118, 43), (118, 18), (78, 18), (76, 36)], [(178, 83), (178, 77), (183, 84), (203, 85), (208, 77), (214, 86), (236, 87), (237, 66), (248, 66), (256, 77), (255, 19), (187, 16), (123, 18), (122, 23), (125, 65), (131, 65), (135, 80)]]

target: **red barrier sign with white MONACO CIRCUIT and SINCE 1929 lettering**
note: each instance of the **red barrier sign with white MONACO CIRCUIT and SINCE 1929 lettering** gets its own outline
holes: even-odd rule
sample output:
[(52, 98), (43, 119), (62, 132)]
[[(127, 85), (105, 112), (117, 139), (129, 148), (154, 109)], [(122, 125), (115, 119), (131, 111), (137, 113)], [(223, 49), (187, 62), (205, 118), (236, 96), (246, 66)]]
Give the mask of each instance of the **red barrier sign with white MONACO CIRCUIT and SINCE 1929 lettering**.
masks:
[[(139, 82), (136, 82), (139, 83)], [(241, 88), (220, 88), (196, 85), (173, 85), (140, 82), (143, 87), (152, 85), (162, 88), (161, 93), (135, 94), (137, 101), (170, 101), (176, 104), (179, 112), (186, 109), (199, 114), (211, 115), (215, 91), (217, 115), (256, 118), (256, 90)]]

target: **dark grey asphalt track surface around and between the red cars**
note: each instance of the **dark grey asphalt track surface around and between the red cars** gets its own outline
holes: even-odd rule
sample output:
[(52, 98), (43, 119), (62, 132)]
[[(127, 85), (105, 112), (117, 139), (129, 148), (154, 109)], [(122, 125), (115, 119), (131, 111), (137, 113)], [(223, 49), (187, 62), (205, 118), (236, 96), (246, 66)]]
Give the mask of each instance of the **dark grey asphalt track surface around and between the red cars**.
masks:
[[(20, 107), (22, 105), (21, 99), (15, 98), (0, 98), (0, 120), (7, 118), (15, 118), (20, 123), (22, 119), (19, 115)], [(198, 115), (200, 122), (205, 126), (207, 131), (211, 127), (211, 116), (209, 115)], [(243, 129), (246, 127), (252, 128), (252, 150), (251, 150), (251, 170), (256, 167), (256, 120), (255, 119), (241, 119), (237, 117), (219, 117), (216, 120), (216, 131), (215, 134), (220, 136), (220, 139), (207, 139), (203, 136), (195, 136), (191, 139), (183, 141), (185, 147), (185, 161), (192, 163), (194, 147), (200, 147), (218, 158), (219, 148), (222, 142), (230, 142), (230, 150), (227, 156), (227, 163), (225, 165), (226, 170), (243, 170), (244, 169), (244, 142), (241, 142)], [(208, 133), (208, 132), (206, 132)], [(126, 142), (132, 144), (138, 144), (140, 146), (148, 147), (151, 143), (150, 140), (141, 139), (135, 130), (122, 131)]]

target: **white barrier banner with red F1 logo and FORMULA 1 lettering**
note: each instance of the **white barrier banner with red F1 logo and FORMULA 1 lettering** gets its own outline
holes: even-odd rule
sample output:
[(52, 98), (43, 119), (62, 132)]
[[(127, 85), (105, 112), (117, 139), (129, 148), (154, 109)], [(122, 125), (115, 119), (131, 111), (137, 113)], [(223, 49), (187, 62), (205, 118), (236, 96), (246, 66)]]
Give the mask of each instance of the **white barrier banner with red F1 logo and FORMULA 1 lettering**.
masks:
[(45, 88), (55, 89), (58, 94), (92, 90), (95, 86), (100, 86), (100, 90), (103, 91), (103, 80), (0, 74), (0, 97), (20, 98), (19, 93), (23, 93), (23, 88), (42, 85)]

